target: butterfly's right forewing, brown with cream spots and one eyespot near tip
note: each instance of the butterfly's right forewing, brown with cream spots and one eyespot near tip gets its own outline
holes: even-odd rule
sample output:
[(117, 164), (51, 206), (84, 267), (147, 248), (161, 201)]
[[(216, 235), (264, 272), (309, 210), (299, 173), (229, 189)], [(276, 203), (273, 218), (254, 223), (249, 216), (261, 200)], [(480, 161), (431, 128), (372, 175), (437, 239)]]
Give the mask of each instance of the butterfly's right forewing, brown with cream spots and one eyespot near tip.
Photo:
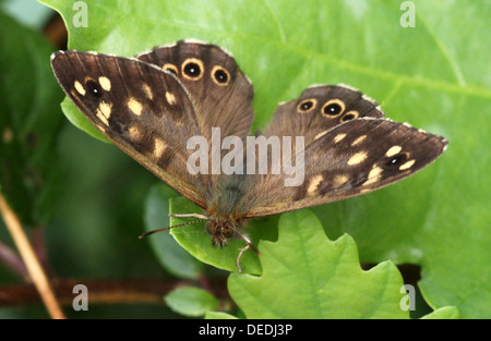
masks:
[[(291, 135), (301, 134), (294, 129)], [(297, 150), (292, 160), (292, 165), (303, 163), (299, 185), (286, 185), (285, 180), (291, 175), (286, 175), (285, 169), (278, 175), (256, 175), (255, 188), (261, 188), (262, 195), (255, 191), (247, 195), (247, 217), (280, 214), (375, 191), (430, 165), (446, 144), (441, 136), (371, 115), (340, 122), (326, 131), (319, 129), (313, 138), (306, 137), (304, 150)]]

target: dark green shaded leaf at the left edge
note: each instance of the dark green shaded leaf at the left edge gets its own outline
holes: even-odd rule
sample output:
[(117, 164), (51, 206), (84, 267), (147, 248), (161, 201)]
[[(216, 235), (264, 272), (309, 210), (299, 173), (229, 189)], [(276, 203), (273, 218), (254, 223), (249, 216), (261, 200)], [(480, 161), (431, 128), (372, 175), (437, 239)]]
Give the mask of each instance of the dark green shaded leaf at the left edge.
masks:
[(0, 21), (0, 191), (24, 224), (45, 224), (57, 194), (62, 92), (49, 44), (2, 12)]

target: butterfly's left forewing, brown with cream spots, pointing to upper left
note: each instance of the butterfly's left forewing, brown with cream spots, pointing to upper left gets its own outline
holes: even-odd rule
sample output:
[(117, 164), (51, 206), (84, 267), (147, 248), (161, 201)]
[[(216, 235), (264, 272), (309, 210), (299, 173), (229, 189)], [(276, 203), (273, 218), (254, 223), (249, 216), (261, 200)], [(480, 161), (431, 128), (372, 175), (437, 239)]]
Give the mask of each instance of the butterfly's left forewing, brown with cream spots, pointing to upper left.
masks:
[(51, 57), (58, 82), (82, 113), (119, 148), (201, 207), (202, 174), (188, 171), (187, 143), (199, 135), (182, 84), (136, 59), (59, 51)]

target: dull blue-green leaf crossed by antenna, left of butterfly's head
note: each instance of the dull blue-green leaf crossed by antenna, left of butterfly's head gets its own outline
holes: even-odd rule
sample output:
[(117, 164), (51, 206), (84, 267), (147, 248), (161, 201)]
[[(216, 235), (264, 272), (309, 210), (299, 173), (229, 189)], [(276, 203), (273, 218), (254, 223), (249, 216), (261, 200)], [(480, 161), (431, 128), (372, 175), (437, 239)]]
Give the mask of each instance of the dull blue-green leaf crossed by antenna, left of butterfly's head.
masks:
[[(156, 184), (148, 192), (145, 202), (145, 230), (153, 231), (170, 227), (169, 199), (179, 194), (165, 184)], [(197, 279), (203, 264), (191, 257), (179, 246), (169, 231), (147, 236), (160, 264), (171, 273), (181, 278)]]

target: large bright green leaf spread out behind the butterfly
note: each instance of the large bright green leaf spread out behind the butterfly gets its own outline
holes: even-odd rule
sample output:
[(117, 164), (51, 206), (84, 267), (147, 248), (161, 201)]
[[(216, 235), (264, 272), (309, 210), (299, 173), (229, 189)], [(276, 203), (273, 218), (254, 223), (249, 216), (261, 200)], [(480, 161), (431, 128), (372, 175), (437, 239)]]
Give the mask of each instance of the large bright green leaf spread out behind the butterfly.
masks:
[(490, 316), (489, 1), (412, 1), (416, 27), (406, 28), (398, 1), (84, 1), (88, 27), (73, 26), (71, 2), (44, 2), (62, 14), (70, 48), (132, 56), (182, 38), (225, 47), (254, 84), (254, 130), (307, 86), (346, 83), (390, 118), (443, 134), (448, 150), (421, 173), (314, 212), (332, 239), (352, 235), (363, 261), (421, 265), (433, 308)]

